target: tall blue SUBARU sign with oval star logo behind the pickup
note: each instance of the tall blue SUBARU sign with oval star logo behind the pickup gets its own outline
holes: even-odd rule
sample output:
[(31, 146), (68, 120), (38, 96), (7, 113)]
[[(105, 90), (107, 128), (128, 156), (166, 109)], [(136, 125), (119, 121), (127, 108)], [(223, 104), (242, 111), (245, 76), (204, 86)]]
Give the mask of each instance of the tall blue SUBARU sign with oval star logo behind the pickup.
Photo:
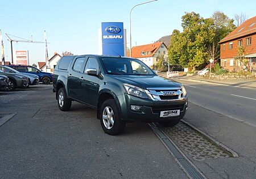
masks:
[(102, 54), (124, 56), (124, 30), (121, 22), (101, 23)]

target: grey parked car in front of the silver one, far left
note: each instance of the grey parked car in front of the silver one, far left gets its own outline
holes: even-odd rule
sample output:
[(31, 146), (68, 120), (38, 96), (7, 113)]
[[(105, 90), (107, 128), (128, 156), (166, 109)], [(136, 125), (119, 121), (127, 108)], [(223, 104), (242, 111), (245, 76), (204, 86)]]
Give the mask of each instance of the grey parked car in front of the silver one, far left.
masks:
[(15, 88), (26, 88), (29, 85), (26, 76), (16, 75), (14, 73), (3, 73), (2, 70), (0, 70), (0, 75), (5, 75), (10, 80), (10, 85), (6, 88), (6, 91), (14, 91)]

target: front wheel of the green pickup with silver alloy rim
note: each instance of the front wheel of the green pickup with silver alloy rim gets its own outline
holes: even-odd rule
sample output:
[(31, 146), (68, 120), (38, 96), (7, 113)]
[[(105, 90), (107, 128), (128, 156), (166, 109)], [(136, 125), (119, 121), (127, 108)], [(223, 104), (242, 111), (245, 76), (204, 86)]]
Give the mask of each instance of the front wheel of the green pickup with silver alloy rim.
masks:
[[(108, 110), (109, 109), (109, 110)], [(110, 113), (108, 113), (108, 112)], [(112, 114), (113, 113), (113, 114)], [(117, 135), (125, 129), (125, 121), (122, 121), (115, 100), (109, 99), (104, 101), (100, 107), (101, 127), (109, 135)], [(105, 116), (106, 118), (104, 119)], [(108, 125), (109, 123), (109, 125)]]

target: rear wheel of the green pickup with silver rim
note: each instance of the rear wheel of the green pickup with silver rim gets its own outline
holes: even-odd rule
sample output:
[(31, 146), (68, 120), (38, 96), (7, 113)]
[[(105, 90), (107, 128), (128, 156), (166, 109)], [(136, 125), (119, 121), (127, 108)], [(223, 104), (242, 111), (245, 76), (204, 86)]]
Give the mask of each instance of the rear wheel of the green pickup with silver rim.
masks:
[(71, 108), (72, 101), (67, 98), (64, 88), (60, 88), (58, 91), (57, 103), (60, 110), (67, 111)]

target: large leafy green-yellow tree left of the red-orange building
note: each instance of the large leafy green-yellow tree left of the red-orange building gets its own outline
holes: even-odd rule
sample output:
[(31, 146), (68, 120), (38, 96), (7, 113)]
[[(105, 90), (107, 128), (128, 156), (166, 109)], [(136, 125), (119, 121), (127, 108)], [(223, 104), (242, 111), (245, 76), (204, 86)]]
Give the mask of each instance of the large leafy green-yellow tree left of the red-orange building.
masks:
[(189, 69), (206, 65), (210, 58), (218, 59), (218, 42), (236, 28), (234, 20), (219, 11), (207, 19), (195, 12), (185, 12), (181, 21), (183, 32), (176, 29), (172, 32), (168, 60), (172, 65)]

